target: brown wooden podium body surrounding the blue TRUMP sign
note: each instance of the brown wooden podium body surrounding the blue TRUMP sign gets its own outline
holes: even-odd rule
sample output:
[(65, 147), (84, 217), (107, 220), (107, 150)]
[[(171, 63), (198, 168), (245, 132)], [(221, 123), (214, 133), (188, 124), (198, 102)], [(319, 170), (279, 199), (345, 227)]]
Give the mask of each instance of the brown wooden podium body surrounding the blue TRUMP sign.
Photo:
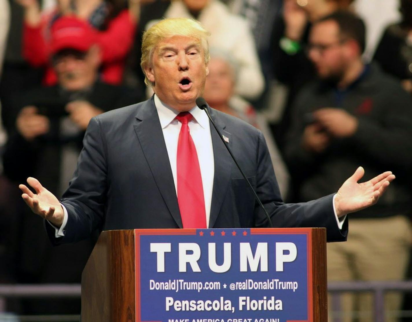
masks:
[[(311, 258), (308, 289), (312, 290), (309, 321), (326, 322), (326, 229), (303, 229), (311, 236), (307, 253)], [(288, 231), (276, 229), (283, 230)], [(103, 231), (98, 238), (82, 273), (82, 322), (140, 322), (136, 321), (135, 232)]]

